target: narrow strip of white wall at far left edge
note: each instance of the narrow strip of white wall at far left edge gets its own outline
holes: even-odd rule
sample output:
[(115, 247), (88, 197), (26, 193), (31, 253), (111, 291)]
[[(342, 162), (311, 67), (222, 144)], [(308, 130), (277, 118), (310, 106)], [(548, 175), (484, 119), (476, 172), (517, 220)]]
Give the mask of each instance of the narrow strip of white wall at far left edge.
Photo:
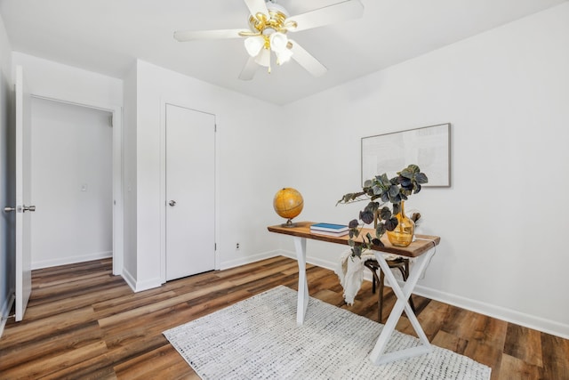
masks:
[[(13, 230), (14, 213), (4, 213), (4, 206), (16, 203), (12, 183), (14, 181), (13, 133), (10, 128), (10, 109), (12, 104), (12, 47), (4, 20), (0, 16), (0, 317), (10, 312), (10, 302), (14, 291), (14, 251)], [(0, 336), (4, 330), (0, 322)]]

